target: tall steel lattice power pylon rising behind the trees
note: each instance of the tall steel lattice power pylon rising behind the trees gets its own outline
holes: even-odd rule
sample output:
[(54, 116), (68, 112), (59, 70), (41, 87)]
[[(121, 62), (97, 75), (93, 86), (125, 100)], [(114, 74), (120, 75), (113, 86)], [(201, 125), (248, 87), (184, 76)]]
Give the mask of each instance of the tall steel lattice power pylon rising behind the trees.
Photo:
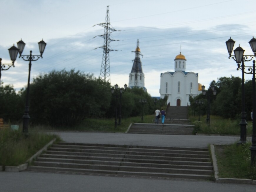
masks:
[(112, 41), (115, 41), (114, 39), (110, 38), (110, 34), (113, 31), (117, 31), (117, 30), (115, 30), (114, 28), (111, 28), (110, 21), (109, 21), (109, 6), (107, 6), (105, 23), (101, 23), (98, 25), (104, 27), (104, 35), (99, 35), (99, 37), (102, 37), (104, 39), (104, 45), (102, 47), (99, 47), (103, 49), (102, 64), (101, 64), (99, 76), (100, 78), (104, 79), (104, 81), (110, 82), (109, 52), (116, 51), (109, 48), (110, 47), (109, 43)]

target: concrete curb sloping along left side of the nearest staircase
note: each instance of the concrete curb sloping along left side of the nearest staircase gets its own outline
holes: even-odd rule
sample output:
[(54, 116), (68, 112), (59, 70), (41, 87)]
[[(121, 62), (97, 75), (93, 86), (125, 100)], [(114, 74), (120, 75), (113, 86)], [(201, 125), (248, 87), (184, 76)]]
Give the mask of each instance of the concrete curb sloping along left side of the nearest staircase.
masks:
[[(43, 148), (41, 148), (39, 151), (37, 151), (32, 157), (30, 157), (26, 163), (19, 165), (19, 166), (5, 166), (5, 171), (9, 171), (9, 172), (19, 172), (19, 171), (23, 171), (25, 169), (27, 169), (28, 164), (31, 163), (36, 157), (40, 156), (41, 153), (43, 151), (46, 151), (47, 148), (52, 145), (52, 143), (54, 143), (54, 141), (56, 141), (56, 138), (54, 138), (53, 140), (51, 140), (49, 143), (47, 143)], [(2, 167), (2, 166), (1, 166)], [(0, 167), (0, 170), (2, 170)]]

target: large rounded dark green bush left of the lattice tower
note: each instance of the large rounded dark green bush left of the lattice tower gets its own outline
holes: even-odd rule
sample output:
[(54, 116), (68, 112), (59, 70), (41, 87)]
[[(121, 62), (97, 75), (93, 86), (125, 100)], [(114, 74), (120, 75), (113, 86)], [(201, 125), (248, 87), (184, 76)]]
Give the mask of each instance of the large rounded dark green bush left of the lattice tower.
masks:
[(32, 123), (75, 126), (85, 117), (102, 117), (110, 104), (110, 84), (80, 71), (51, 71), (30, 86)]

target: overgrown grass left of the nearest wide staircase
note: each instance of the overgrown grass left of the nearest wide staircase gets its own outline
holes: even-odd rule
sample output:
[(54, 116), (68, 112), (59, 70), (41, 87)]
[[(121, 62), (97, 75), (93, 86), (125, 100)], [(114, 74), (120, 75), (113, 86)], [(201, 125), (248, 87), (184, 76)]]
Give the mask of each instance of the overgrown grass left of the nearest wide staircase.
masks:
[(57, 138), (57, 141), (61, 140), (56, 135), (33, 129), (30, 129), (26, 138), (22, 131), (0, 130), (0, 165), (21, 165), (54, 138)]

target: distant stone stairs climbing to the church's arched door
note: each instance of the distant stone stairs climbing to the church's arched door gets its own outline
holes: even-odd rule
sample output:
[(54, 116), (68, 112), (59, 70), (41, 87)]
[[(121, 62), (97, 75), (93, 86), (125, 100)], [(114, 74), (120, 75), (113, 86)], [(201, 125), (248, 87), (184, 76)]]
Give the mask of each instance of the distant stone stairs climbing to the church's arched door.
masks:
[[(154, 120), (153, 120), (154, 121)], [(126, 133), (192, 135), (194, 125), (188, 119), (187, 107), (167, 106), (164, 124), (133, 123)]]

